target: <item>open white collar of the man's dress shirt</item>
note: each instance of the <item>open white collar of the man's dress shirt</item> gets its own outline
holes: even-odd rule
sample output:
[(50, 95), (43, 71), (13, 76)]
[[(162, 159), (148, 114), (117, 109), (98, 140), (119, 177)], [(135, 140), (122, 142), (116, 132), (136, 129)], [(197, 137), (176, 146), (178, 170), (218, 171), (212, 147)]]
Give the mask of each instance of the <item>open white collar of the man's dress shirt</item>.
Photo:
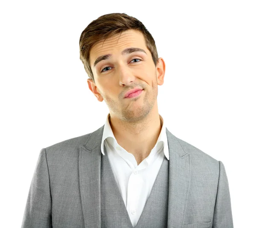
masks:
[[(166, 156), (166, 159), (169, 160), (169, 147), (168, 147), (168, 141), (167, 141), (167, 135), (166, 135), (166, 125), (165, 125), (165, 122), (163, 121), (163, 117), (161, 115), (159, 115), (159, 117), (160, 117), (160, 122), (162, 124), (162, 129), (157, 139), (156, 145), (158, 144), (158, 142), (163, 141), (163, 153)], [(108, 137), (111, 137), (117, 144), (116, 138), (109, 124), (109, 119), (110, 119), (110, 113), (108, 113), (107, 115), (105, 125), (104, 125), (103, 135), (102, 135), (101, 152), (103, 155), (105, 155), (104, 153), (105, 139), (107, 139)]]

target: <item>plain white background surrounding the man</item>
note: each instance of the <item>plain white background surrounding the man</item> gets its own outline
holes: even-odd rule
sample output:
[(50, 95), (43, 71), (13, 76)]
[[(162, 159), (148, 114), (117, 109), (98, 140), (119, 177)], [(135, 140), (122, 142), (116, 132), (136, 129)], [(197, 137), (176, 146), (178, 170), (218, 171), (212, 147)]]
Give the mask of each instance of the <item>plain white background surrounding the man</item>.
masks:
[(97, 17), (139, 19), (166, 63), (168, 130), (224, 163), (236, 228), (255, 225), (256, 3), (8, 1), (0, 6), (1, 227), (20, 227), (39, 152), (105, 123), (79, 38)]

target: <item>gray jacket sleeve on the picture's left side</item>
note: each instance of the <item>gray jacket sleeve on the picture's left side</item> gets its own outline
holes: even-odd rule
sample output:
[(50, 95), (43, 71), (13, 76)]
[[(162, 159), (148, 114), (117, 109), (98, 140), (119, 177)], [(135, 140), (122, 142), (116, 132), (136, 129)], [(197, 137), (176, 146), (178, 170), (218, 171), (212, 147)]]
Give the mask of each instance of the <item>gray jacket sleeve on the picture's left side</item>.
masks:
[(52, 228), (52, 197), (45, 148), (39, 154), (21, 228)]

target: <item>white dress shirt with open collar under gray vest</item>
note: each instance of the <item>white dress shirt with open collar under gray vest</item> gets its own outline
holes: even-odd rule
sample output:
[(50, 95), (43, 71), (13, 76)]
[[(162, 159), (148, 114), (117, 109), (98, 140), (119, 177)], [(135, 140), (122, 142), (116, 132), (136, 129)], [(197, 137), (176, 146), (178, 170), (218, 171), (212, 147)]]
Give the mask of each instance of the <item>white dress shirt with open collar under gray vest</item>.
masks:
[[(166, 126), (163, 117), (159, 115), (162, 130), (157, 143), (139, 165), (133, 154), (122, 148), (116, 141), (109, 124), (110, 114), (106, 118), (101, 151), (110, 161), (113, 174), (133, 227), (136, 226), (151, 193), (164, 156), (169, 160), (169, 147), (166, 136)], [(107, 151), (104, 151), (104, 144)]]

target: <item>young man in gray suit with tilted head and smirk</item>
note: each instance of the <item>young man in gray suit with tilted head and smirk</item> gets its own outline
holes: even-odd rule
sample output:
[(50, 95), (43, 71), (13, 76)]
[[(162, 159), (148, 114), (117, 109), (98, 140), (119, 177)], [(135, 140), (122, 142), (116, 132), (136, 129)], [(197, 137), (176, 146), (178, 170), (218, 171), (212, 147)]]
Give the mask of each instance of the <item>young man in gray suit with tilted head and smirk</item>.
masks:
[(224, 165), (166, 128), (158, 113), (165, 62), (126, 14), (80, 37), (89, 89), (109, 114), (93, 133), (41, 150), (23, 228), (233, 228)]

